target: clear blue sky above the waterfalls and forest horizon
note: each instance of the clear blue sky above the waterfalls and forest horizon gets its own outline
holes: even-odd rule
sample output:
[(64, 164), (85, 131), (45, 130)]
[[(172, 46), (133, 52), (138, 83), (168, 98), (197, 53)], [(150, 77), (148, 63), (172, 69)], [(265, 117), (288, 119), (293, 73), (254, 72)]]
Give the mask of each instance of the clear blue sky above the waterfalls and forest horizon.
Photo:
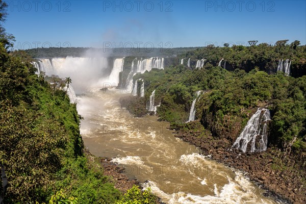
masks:
[(16, 37), (15, 48), (305, 44), (305, 2), (7, 1), (4, 27)]

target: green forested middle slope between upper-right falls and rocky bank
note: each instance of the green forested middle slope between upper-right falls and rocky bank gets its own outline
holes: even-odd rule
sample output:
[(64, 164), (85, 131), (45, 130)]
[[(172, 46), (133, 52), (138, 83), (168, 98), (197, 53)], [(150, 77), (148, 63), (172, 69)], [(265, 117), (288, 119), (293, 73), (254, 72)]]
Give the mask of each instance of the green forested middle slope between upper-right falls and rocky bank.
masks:
[[(231, 49), (242, 52), (250, 48), (234, 46)], [(194, 53), (201, 51), (197, 49)], [(198, 57), (201, 58), (205, 57)], [(292, 141), (296, 136), (297, 140), (293, 147), (296, 152), (305, 151), (305, 76), (294, 79), (286, 77), (283, 73), (268, 74), (258, 68), (247, 73), (239, 69), (227, 71), (211, 65), (191, 71), (177, 65), (164, 70), (137, 74), (134, 78), (144, 80), (145, 100), (148, 100), (150, 93), (156, 90), (155, 105), (161, 101), (161, 106), (157, 109), (161, 120), (173, 124), (186, 122), (193, 95), (196, 91), (203, 90), (204, 93), (195, 105), (196, 119), (200, 120), (213, 136), (228, 134), (234, 140), (237, 132), (243, 129), (250, 118), (251, 110), (268, 106), (272, 116), (270, 144), (284, 147), (285, 143)], [(232, 131), (236, 135), (233, 135)]]

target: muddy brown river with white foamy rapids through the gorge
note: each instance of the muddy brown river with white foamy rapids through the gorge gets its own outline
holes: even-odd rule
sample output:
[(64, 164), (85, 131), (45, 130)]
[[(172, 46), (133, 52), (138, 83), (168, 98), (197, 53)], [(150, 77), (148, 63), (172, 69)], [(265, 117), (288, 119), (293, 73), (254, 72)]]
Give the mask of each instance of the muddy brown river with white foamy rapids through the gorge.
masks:
[(78, 96), (81, 135), (95, 156), (114, 158), (126, 175), (166, 203), (278, 203), (241, 172), (199, 154), (156, 116), (136, 118), (120, 108), (119, 91), (91, 89)]

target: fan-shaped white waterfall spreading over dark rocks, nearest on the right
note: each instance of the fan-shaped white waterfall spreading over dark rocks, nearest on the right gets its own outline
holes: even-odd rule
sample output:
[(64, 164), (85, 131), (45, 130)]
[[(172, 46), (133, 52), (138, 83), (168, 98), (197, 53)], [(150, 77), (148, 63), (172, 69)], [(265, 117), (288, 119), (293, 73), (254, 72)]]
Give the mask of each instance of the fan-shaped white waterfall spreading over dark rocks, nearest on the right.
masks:
[(246, 152), (249, 146), (250, 152), (267, 150), (267, 121), (269, 120), (270, 111), (268, 109), (259, 108), (249, 119), (232, 148), (241, 149), (243, 152)]

